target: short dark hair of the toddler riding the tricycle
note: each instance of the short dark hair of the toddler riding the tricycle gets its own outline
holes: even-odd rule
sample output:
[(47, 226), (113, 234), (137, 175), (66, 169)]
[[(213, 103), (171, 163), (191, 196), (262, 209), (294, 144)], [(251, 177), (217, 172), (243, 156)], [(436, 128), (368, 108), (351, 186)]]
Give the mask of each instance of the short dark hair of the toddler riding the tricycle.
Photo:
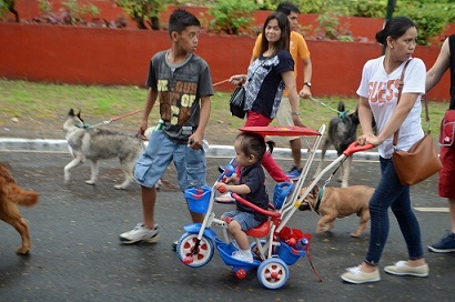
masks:
[(267, 145), (270, 153), (273, 152), (273, 148), (275, 147), (275, 142), (265, 141), (263, 135), (254, 132), (241, 132), (235, 140), (240, 140), (240, 150), (246, 157), (254, 155), (257, 161), (262, 161), (264, 158)]

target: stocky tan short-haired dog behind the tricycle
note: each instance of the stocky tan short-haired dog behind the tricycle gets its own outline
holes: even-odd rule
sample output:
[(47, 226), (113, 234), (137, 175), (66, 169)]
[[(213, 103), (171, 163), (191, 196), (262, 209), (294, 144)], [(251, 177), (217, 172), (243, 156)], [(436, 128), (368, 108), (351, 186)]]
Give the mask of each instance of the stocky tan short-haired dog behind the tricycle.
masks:
[[(304, 194), (306, 188), (303, 188), (301, 194)], [(335, 219), (355, 213), (360, 217), (360, 225), (351, 233), (351, 236), (358, 238), (370, 221), (368, 202), (374, 193), (374, 188), (365, 185), (326, 187), (321, 192), (322, 195), (320, 192), (320, 188), (315, 185), (299, 207), (301, 211), (315, 211), (322, 217), (317, 222), (316, 233), (330, 231)]]

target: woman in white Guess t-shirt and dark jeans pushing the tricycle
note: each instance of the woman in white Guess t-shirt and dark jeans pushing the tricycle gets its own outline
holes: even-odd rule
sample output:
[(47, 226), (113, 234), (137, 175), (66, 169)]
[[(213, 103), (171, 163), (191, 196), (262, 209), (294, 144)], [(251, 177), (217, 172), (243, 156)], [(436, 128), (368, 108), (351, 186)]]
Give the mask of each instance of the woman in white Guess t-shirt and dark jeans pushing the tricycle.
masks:
[[(360, 144), (371, 143), (378, 147), (382, 175), (370, 201), (368, 252), (362, 264), (347, 269), (347, 272), (341, 275), (350, 283), (381, 280), (376, 265), (388, 236), (388, 208), (396, 217), (405, 239), (408, 259), (385, 266), (384, 271), (395, 275), (428, 275), (421, 229), (411, 207), (410, 187), (400, 183), (392, 162), (392, 141), (398, 129), (397, 149), (408, 150), (424, 135), (421, 124), (421, 99), (425, 93), (426, 69), (421, 59), (412, 59), (416, 38), (417, 29), (408, 18), (391, 19), (384, 29), (376, 33), (376, 41), (384, 46), (385, 56), (367, 61), (363, 68), (362, 81), (357, 89), (358, 117), (363, 134), (357, 141)], [(406, 63), (403, 90), (397, 103), (400, 78)], [(374, 134), (372, 128), (373, 118), (377, 134)]]

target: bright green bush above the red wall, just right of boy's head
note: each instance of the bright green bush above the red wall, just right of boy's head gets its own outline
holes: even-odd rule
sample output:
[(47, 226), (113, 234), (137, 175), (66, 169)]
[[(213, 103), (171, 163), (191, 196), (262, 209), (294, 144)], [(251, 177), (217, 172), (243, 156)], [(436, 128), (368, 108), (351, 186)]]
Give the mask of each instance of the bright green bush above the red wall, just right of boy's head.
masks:
[(211, 30), (228, 34), (249, 33), (256, 9), (253, 0), (216, 1), (209, 8), (209, 14), (213, 16)]

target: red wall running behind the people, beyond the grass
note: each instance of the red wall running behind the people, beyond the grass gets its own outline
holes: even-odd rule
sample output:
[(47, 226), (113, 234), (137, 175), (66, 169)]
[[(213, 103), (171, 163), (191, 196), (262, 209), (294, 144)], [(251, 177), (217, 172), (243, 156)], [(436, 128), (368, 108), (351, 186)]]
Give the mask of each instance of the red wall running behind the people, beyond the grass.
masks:
[[(58, 1), (55, 1), (58, 2)], [(111, 16), (119, 8), (111, 1), (91, 1)], [(103, 7), (101, 7), (101, 4)], [(34, 6), (34, 8), (33, 8)], [(37, 1), (19, 0), (22, 18), (37, 9)], [(32, 16), (32, 12), (30, 12)], [(198, 13), (193, 11), (193, 13)], [(259, 12), (265, 19), (267, 12)], [(262, 16), (264, 14), (264, 16)], [(310, 18), (315, 16), (301, 16)], [(163, 13), (162, 18), (169, 18)], [(360, 19), (360, 18), (357, 18)], [(352, 24), (356, 24), (352, 18)], [(301, 23), (302, 20), (301, 19)], [(374, 20), (371, 20), (372, 22)], [(375, 22), (377, 22), (376, 20)], [(371, 34), (372, 27), (358, 23), (360, 34)], [(374, 28), (380, 27), (375, 24)], [(364, 32), (361, 33), (363, 28)], [(373, 39), (373, 38), (371, 38)], [(165, 31), (135, 29), (91, 29), (60, 26), (29, 26), (0, 23), (0, 77), (32, 81), (52, 81), (83, 84), (139, 84), (145, 81), (149, 60), (153, 53), (170, 46)], [(220, 82), (235, 73), (246, 72), (254, 44), (254, 37), (202, 34), (198, 54), (212, 70), (213, 82)], [(366, 60), (378, 57), (381, 47), (375, 43), (354, 43), (307, 40), (313, 63), (313, 93), (318, 95), (355, 97), (362, 67)], [(437, 58), (438, 47), (417, 47), (415, 57), (422, 58), (427, 68)], [(300, 72), (303, 67), (300, 63)], [(299, 77), (297, 85), (303, 85)], [(231, 91), (226, 83), (219, 90)], [(448, 99), (448, 74), (436, 85), (428, 98)]]

